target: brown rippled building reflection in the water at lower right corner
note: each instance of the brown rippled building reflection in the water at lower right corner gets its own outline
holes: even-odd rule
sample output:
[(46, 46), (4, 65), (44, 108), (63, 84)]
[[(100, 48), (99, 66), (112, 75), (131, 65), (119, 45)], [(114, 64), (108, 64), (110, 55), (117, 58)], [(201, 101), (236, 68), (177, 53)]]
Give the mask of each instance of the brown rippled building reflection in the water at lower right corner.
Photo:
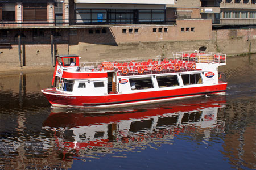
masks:
[(230, 103), (225, 110), (226, 123), (223, 152), (234, 169), (255, 169), (255, 100)]

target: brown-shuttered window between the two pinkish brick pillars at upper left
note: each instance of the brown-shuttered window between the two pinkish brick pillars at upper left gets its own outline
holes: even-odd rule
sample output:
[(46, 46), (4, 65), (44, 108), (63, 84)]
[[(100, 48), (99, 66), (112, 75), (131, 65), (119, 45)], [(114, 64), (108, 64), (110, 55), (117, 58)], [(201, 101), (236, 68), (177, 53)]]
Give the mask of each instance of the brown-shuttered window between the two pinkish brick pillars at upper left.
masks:
[(23, 20), (47, 20), (46, 3), (23, 3)]

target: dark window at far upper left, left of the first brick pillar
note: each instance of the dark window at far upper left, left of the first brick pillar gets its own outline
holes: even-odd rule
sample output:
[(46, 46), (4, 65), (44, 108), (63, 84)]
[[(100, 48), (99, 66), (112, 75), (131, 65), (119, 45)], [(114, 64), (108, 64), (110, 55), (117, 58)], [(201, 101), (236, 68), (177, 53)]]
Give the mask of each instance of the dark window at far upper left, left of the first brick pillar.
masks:
[(15, 21), (15, 3), (0, 3), (0, 20)]

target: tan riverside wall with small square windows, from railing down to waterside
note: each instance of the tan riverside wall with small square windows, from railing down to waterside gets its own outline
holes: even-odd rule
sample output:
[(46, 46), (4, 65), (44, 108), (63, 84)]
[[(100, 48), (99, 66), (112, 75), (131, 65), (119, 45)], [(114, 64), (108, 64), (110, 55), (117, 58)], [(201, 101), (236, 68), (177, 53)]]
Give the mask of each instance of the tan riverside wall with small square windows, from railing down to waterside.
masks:
[[(71, 35), (68, 29), (56, 29), (53, 31), (60, 33), (53, 37), (53, 48), (54, 54), (78, 54), (82, 62), (155, 58), (157, 55), (171, 57), (174, 51), (198, 50), (201, 46), (207, 51), (226, 54), (256, 53), (256, 29), (212, 31), (210, 25), (210, 20), (177, 20), (177, 25), (72, 28)], [(7, 39), (1, 42), (11, 44), (0, 45), (0, 63), (19, 66), (18, 32), (16, 29), (8, 29), (8, 32)], [(22, 58), (26, 59), (27, 66), (52, 66), (50, 35), (51, 29), (44, 29), (44, 36), (36, 37), (32, 36), (32, 29), (22, 29)]]

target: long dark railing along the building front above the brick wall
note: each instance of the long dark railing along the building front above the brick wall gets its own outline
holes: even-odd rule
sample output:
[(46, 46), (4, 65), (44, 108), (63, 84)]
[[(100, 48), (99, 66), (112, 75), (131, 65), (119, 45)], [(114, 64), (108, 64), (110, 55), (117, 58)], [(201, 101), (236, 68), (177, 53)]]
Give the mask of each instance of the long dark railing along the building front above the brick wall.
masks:
[(61, 27), (69, 25), (175, 24), (176, 19), (76, 19), (0, 21), (0, 27)]

